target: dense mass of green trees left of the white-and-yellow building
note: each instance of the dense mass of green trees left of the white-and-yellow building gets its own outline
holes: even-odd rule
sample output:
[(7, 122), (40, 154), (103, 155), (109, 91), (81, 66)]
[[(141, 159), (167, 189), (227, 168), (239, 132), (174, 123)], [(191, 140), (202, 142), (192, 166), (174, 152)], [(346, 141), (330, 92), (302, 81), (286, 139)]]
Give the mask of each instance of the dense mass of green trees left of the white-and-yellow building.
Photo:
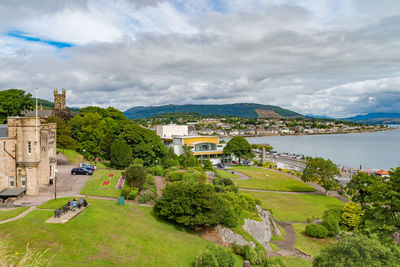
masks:
[(111, 160), (116, 167), (125, 168), (134, 158), (151, 166), (164, 162), (168, 155), (159, 136), (113, 107), (89, 106), (72, 118), (53, 116), (48, 121), (57, 123), (58, 147), (76, 149), (89, 160)]

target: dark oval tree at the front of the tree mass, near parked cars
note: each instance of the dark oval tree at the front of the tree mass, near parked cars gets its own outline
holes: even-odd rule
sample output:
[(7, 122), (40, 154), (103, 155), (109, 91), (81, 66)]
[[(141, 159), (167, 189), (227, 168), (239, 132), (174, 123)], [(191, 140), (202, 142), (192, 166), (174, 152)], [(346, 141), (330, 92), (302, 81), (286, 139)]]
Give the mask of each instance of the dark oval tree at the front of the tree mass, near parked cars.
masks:
[(115, 140), (110, 149), (110, 164), (117, 169), (125, 169), (132, 162), (132, 149), (124, 139)]

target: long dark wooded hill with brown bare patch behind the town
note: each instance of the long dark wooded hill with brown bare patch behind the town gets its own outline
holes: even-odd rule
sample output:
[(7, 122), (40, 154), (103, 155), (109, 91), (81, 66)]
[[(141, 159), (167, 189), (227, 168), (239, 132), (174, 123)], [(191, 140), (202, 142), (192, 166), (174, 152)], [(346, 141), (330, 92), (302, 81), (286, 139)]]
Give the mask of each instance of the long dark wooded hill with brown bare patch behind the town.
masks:
[(288, 118), (302, 115), (277, 106), (253, 103), (225, 105), (164, 105), (133, 107), (124, 112), (129, 119), (145, 119), (165, 113), (198, 113), (201, 115), (225, 115), (243, 118)]

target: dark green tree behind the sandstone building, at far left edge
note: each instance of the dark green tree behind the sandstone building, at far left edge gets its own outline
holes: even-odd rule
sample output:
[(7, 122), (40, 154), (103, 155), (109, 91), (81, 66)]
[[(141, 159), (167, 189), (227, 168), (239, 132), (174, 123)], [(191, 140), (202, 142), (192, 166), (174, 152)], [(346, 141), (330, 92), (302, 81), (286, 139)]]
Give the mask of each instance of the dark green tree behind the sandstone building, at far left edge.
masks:
[(8, 116), (22, 116), (22, 111), (33, 109), (31, 97), (19, 89), (0, 91), (0, 124), (6, 123)]

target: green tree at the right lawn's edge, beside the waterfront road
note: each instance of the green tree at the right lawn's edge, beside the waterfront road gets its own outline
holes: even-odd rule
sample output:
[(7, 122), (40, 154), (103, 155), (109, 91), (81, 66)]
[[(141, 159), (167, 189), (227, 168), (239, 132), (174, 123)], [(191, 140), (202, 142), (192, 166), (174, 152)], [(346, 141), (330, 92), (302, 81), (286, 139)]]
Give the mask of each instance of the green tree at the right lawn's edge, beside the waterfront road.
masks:
[(335, 181), (337, 175), (340, 175), (339, 169), (331, 160), (308, 158), (301, 179), (304, 182), (321, 184), (328, 195), (329, 190), (339, 186), (339, 183)]

